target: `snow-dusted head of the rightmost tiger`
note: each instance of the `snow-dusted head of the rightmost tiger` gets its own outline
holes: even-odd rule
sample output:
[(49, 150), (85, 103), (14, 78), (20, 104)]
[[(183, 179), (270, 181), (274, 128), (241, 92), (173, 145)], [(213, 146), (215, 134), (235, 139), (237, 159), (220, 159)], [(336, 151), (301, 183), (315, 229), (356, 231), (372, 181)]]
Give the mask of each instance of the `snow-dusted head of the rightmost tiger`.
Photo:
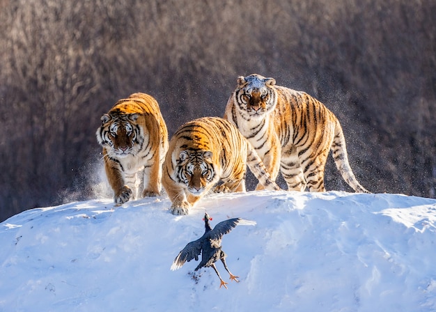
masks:
[(256, 74), (238, 77), (234, 94), (242, 116), (247, 119), (261, 119), (274, 110), (277, 104), (277, 91), (272, 88), (274, 84), (274, 78)]

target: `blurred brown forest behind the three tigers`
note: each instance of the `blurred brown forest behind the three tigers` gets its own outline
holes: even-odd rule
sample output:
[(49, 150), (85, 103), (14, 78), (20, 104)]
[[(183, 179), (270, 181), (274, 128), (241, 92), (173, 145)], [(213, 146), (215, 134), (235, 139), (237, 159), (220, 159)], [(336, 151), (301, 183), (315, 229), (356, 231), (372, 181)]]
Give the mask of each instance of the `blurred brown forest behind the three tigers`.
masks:
[[(153, 95), (170, 135), (222, 116), (239, 75), (338, 116), (371, 192), (435, 197), (435, 0), (0, 0), (0, 221), (95, 198), (95, 130)], [(326, 187), (351, 192), (334, 167)]]

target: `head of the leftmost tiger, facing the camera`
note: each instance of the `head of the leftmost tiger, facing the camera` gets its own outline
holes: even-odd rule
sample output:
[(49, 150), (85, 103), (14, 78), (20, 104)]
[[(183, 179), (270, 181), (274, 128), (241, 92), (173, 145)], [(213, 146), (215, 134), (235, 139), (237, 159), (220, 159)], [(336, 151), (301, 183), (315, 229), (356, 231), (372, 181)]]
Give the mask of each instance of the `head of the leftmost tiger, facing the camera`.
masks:
[(143, 143), (143, 130), (137, 124), (138, 114), (103, 114), (96, 132), (97, 141), (109, 157), (136, 155)]

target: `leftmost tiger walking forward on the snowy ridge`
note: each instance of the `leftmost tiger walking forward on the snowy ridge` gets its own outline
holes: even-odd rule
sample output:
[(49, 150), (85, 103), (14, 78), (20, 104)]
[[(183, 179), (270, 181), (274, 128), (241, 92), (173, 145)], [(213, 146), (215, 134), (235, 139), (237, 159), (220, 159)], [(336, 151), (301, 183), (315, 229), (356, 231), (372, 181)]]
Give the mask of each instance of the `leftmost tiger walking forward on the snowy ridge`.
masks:
[(168, 130), (155, 98), (133, 93), (118, 100), (100, 119), (102, 125), (95, 135), (103, 148), (114, 203), (122, 205), (130, 197), (159, 195)]

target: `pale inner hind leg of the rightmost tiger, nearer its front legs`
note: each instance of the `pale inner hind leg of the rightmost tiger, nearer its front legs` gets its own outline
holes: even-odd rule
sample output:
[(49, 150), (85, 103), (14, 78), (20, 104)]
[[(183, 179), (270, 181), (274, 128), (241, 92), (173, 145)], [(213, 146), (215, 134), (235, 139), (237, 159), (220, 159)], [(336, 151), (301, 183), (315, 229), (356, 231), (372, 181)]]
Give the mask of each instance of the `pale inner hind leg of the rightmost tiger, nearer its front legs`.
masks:
[(299, 161), (297, 148), (283, 149), (280, 161), (281, 175), (288, 185), (288, 191), (304, 192), (306, 179)]

